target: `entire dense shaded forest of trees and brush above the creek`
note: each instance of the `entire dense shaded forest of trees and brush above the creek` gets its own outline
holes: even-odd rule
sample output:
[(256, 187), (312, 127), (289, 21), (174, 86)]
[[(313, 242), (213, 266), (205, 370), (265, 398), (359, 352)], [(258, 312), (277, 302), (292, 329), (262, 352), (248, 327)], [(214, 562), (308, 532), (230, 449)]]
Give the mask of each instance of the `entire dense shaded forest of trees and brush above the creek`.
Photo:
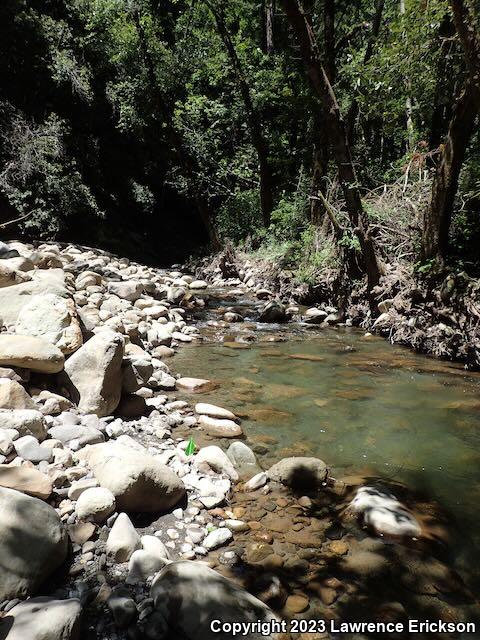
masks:
[(5, 232), (476, 273), (475, 0), (4, 0)]

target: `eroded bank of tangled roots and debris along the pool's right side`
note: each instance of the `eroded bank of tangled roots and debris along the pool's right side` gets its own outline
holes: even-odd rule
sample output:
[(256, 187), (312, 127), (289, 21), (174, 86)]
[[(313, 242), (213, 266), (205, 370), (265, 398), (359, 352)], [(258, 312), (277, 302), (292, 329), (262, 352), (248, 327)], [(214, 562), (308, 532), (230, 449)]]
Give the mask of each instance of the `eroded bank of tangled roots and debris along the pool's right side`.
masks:
[(274, 297), (286, 309), (311, 307), (303, 319), (312, 324), (359, 327), (391, 344), (480, 370), (480, 283), (465, 272), (422, 276), (410, 264), (385, 265), (372, 312), (366, 283), (354, 281), (345, 290), (342, 274), (333, 269), (306, 284), (275, 261), (232, 248), (190, 267), (213, 286), (245, 285), (259, 299)]

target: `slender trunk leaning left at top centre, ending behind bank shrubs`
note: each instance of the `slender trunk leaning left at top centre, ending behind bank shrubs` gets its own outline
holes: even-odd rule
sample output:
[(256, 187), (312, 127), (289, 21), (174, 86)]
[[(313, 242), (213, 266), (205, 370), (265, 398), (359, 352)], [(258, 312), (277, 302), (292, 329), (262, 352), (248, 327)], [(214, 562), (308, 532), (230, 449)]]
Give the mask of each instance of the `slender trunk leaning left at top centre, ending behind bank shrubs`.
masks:
[(257, 152), (259, 166), (259, 182), (260, 182), (260, 207), (262, 211), (263, 224), (265, 227), (270, 225), (270, 217), (273, 210), (273, 177), (270, 168), (268, 145), (262, 131), (260, 116), (253, 106), (250, 87), (243, 73), (240, 59), (237, 55), (235, 45), (228, 32), (227, 25), (223, 13), (215, 8), (213, 4), (207, 0), (206, 2), (217, 25), (218, 33), (227, 51), (228, 57), (232, 64), (240, 89), (240, 94), (245, 106), (247, 124), (250, 130), (252, 144)]

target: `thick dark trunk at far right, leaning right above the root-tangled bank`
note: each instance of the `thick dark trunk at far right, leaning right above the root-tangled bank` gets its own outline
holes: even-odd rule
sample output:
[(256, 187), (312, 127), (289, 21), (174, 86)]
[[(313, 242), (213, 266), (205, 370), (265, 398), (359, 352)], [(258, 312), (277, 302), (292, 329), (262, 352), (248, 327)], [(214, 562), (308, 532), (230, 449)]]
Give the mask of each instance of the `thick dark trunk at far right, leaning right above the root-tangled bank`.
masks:
[(458, 178), (478, 113), (474, 94), (472, 83), (468, 81), (454, 107), (435, 172), (430, 203), (424, 214), (422, 257), (435, 260), (439, 266), (445, 263)]

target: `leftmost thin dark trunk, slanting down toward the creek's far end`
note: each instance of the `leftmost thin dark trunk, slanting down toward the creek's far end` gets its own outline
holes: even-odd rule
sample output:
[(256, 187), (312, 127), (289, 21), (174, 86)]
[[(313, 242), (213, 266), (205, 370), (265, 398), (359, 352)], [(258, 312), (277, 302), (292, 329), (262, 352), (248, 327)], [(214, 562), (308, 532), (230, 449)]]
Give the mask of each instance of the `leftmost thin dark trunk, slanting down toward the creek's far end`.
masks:
[(191, 153), (189, 153), (184, 143), (182, 135), (172, 124), (172, 114), (169, 113), (169, 110), (167, 109), (165, 99), (162, 95), (160, 87), (158, 86), (158, 82), (155, 78), (155, 67), (153, 64), (152, 57), (148, 51), (146, 36), (143, 30), (142, 22), (140, 20), (140, 14), (138, 12), (138, 9), (134, 10), (133, 19), (134, 19), (138, 39), (140, 42), (140, 52), (141, 52), (145, 67), (147, 69), (148, 79), (152, 87), (153, 95), (155, 96), (155, 101), (157, 104), (158, 111), (163, 118), (168, 140), (172, 146), (172, 149), (175, 155), (177, 156), (178, 163), (182, 167), (185, 177), (188, 178), (193, 184), (193, 189), (195, 192), (194, 193), (195, 204), (197, 205), (197, 211), (198, 211), (200, 220), (202, 221), (203, 226), (205, 227), (205, 231), (208, 235), (208, 239), (210, 240), (210, 244), (212, 245), (213, 249), (218, 250), (221, 248), (222, 245), (213, 222), (213, 213), (210, 210), (207, 199), (201, 193), (201, 186), (198, 182), (199, 167), (198, 167), (197, 160), (191, 155)]

